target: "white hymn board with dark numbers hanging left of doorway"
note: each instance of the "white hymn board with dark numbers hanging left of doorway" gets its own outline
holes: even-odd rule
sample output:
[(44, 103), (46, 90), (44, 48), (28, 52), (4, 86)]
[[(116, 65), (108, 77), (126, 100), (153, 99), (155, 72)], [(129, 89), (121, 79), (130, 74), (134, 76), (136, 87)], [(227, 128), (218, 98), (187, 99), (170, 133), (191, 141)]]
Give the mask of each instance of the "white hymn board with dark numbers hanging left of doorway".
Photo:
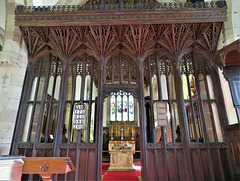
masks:
[(84, 129), (85, 125), (85, 106), (83, 103), (76, 103), (73, 114), (73, 129)]

